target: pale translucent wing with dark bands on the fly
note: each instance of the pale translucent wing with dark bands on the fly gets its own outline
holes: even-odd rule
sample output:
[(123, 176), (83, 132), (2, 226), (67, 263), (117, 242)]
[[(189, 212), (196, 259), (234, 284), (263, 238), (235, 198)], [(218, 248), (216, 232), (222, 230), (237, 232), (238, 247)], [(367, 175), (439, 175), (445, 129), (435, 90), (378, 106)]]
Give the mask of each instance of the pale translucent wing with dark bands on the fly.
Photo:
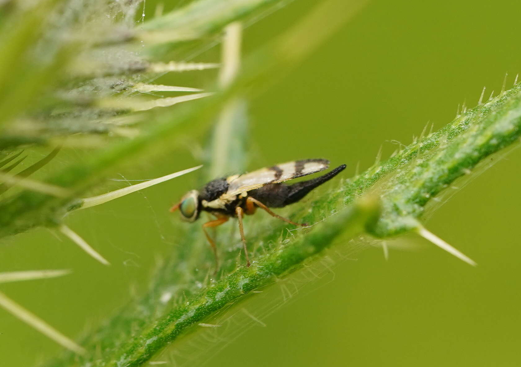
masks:
[(232, 178), (229, 182), (227, 194), (239, 195), (242, 192), (251, 191), (267, 184), (296, 179), (325, 170), (328, 167), (329, 161), (327, 159), (303, 159), (262, 168)]

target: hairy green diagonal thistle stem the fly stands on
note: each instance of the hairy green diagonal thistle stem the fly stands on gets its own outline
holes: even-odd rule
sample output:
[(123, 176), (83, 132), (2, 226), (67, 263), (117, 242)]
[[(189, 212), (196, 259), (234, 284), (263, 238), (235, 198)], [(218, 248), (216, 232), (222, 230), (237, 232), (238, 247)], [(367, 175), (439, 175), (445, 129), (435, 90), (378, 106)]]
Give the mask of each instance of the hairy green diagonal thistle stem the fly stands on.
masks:
[[(101, 356), (83, 359), (69, 355), (50, 365), (86, 365), (87, 362), (93, 366), (141, 365), (190, 326), (244, 298), (252, 290), (273, 283), (306, 259), (316, 258), (344, 231), (350, 236), (365, 231), (387, 237), (416, 229), (425, 205), (434, 195), (458, 177), (472, 174), (476, 164), (490, 154), (518, 140), (520, 127), (521, 85), (517, 84), (486, 104), (458, 116), (443, 129), (420, 137), (390, 159), (347, 180), (336, 192), (309, 204), (311, 210), (293, 213), (294, 220), (309, 223), (327, 218), (311, 229), (281, 236), (281, 230), (289, 227), (270, 222), (269, 233), (259, 232), (249, 238), (254, 248), (250, 268), (237, 265), (237, 259), (228, 258), (222, 265), (220, 278), (217, 276), (215, 280), (210, 276), (205, 281), (205, 276), (197, 279), (187, 275), (193, 265), (190, 259), (166, 263), (145, 297), (132, 302), (110, 323), (85, 339), (84, 347), (101, 350)], [(357, 199), (363, 194), (365, 199)], [(262, 227), (262, 223), (259, 226)], [(187, 232), (184, 245), (204, 248), (199, 233)], [(204, 264), (201, 257), (194, 261)], [(211, 265), (206, 274), (211, 274)], [(200, 284), (199, 288), (195, 286), (196, 281), (203, 281), (202, 288)], [(186, 285), (173, 294), (173, 301), (159, 301), (160, 295), (171, 289), (172, 284), (184, 282)]]

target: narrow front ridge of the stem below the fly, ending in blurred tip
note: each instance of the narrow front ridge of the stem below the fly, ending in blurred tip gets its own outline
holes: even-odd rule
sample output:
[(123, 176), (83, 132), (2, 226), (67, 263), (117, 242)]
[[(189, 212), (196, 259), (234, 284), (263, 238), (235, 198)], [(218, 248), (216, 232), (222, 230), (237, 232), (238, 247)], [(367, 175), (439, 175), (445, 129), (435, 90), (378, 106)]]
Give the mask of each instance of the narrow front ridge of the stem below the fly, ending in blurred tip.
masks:
[[(361, 201), (336, 214), (327, 223), (318, 224), (309, 235), (298, 236), (291, 244), (281, 245), (257, 257), (251, 267), (241, 265), (200, 295), (191, 298), (185, 306), (170, 311), (150, 331), (134, 338), (123, 349), (125, 352), (114, 356), (116, 363), (128, 367), (142, 365), (188, 327), (252, 290), (275, 282), (277, 277), (291, 272), (296, 265), (329, 246), (341, 232), (347, 232), (349, 236), (362, 232), (377, 215), (378, 201)], [(105, 361), (101, 365), (110, 364)]]

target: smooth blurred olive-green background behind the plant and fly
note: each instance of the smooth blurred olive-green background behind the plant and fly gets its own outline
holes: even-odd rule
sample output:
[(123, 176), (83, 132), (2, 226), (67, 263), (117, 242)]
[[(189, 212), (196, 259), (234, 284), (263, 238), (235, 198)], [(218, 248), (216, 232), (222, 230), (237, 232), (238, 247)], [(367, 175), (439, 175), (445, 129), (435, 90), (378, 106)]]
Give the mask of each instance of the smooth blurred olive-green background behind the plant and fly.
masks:
[[(244, 54), (316, 3), (295, 1), (247, 28)], [(151, 0), (146, 10), (153, 14)], [(521, 3), (514, 1), (370, 2), (302, 65), (250, 101), (249, 168), (326, 157), (332, 164), (346, 163), (349, 177), (358, 161), (362, 169), (374, 161), (380, 145), (385, 158), (398, 148), (396, 142), (410, 143), (427, 123), (441, 128), (458, 104), (474, 106), (483, 86), (487, 97), (492, 90), (497, 94), (505, 72), (512, 85), (520, 70), (519, 14)], [(217, 58), (213, 48), (194, 60)], [(173, 85), (200, 86), (188, 74), (169, 78)], [(171, 155), (113, 178), (147, 179), (194, 166), (199, 161), (192, 151), (204, 142), (187, 137)], [(82, 155), (61, 152), (54, 164)], [(313, 281), (306, 288), (317, 289), (263, 318), (266, 327), (253, 326), (237, 340), (223, 332), (222, 350), (204, 358), (216, 366), (520, 365), (521, 247), (515, 224), (520, 158), (521, 151), (514, 150), (489, 170), (475, 172), (426, 222), (476, 260), (477, 268), (414, 236), (402, 241), (417, 250), (391, 249), (388, 261), (381, 249), (369, 248), (351, 260), (336, 259), (334, 275)], [(193, 182), (194, 176), (183, 176), (67, 219), (110, 259), (110, 268), (47, 230), (5, 240), (2, 271), (74, 273), (5, 284), (2, 291), (67, 335), (95, 327), (144, 292), (158, 259), (176, 246), (172, 222), (178, 218), (167, 208)], [(249, 305), (255, 315), (255, 303)], [(4, 365), (33, 366), (59, 352), (3, 310), (0, 320)]]

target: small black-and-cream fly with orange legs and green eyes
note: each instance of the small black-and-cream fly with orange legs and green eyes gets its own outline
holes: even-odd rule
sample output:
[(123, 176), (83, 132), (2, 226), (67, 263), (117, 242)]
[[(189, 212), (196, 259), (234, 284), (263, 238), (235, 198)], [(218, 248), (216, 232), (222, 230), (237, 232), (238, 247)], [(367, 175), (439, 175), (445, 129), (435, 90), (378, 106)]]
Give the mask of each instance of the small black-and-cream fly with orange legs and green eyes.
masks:
[(292, 185), (282, 183), (324, 171), (328, 167), (329, 161), (327, 159), (303, 159), (277, 164), (276, 166), (262, 168), (241, 175), (215, 179), (208, 182), (199, 191), (189, 191), (181, 198), (178, 204), (170, 208), (170, 211), (173, 212), (179, 209), (181, 219), (188, 222), (195, 222), (199, 219), (202, 211), (214, 214), (216, 219), (204, 223), (203, 230), (214, 252), (217, 267), (217, 247), (213, 238), (208, 234), (207, 229), (227, 222), (230, 217), (237, 218), (244, 246), (246, 265), (250, 266), (242, 223), (244, 214), (254, 214), (257, 208), (261, 208), (271, 216), (284, 222), (297, 226), (307, 226), (307, 224), (295, 223), (287, 218), (283, 218), (269, 208), (283, 208), (296, 203), (296, 201), (302, 199), (315, 187), (331, 180), (343, 171), (345, 164), (315, 179), (297, 182)]

